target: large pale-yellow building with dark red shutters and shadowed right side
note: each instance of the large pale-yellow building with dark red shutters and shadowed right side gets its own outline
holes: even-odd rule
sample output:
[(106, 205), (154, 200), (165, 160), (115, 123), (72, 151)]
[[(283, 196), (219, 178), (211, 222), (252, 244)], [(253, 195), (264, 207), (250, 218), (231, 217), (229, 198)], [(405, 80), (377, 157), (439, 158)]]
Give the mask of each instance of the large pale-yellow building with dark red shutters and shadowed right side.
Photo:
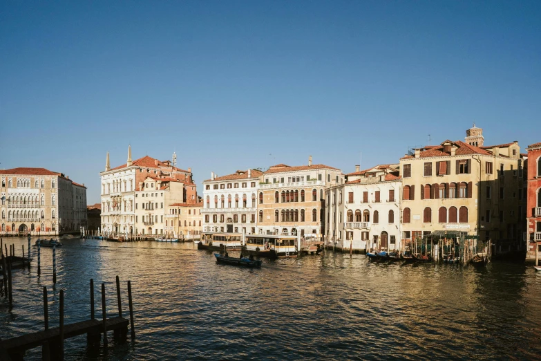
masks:
[(415, 149), (401, 158), (400, 169), (402, 241), (452, 230), (509, 247), (520, 243), (522, 160), (517, 142), (475, 147), (446, 140)]

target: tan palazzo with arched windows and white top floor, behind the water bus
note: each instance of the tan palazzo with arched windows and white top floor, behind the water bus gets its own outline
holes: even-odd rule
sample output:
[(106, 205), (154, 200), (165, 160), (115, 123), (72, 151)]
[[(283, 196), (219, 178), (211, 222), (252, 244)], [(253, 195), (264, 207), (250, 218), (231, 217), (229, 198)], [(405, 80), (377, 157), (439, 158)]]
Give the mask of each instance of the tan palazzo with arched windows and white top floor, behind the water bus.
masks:
[(325, 234), (325, 189), (343, 183), (340, 169), (328, 165), (279, 164), (260, 176), (259, 234)]

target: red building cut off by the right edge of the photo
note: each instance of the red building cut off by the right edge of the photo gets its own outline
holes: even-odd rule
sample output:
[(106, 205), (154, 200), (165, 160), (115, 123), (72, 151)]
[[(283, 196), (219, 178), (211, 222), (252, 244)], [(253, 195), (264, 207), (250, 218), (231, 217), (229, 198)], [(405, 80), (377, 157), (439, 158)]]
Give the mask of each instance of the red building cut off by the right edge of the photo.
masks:
[(526, 259), (535, 259), (535, 245), (541, 248), (541, 142), (529, 145), (526, 150), (528, 151)]

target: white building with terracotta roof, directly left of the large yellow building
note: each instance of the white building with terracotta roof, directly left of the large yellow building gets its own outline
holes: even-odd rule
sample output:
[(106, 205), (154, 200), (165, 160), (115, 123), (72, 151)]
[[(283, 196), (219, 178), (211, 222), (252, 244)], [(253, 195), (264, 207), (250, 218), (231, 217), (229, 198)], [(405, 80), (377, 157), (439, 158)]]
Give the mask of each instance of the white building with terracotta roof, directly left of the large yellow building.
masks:
[(325, 192), (330, 243), (341, 249), (399, 250), (399, 165), (357, 166), (345, 180)]

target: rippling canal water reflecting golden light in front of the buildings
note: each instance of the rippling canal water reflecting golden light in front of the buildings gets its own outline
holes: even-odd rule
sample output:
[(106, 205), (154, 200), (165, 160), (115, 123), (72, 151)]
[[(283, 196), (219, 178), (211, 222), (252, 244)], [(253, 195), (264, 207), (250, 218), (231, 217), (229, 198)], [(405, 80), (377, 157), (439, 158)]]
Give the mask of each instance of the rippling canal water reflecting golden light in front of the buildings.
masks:
[[(17, 255), (26, 239), (15, 243)], [(32, 243), (35, 239), (32, 239)], [(42, 288), (50, 326), (90, 315), (89, 280), (106, 284), (107, 312), (124, 315), (131, 280), (134, 342), (88, 351), (86, 337), (66, 340), (66, 360), (407, 360), (541, 358), (541, 272), (513, 263), (486, 269), (369, 263), (361, 254), (265, 261), (257, 270), (216, 264), (191, 243), (111, 243), (62, 239), (53, 286), (52, 250), (37, 249), (32, 268), (14, 273), (14, 306), (0, 300), (0, 337), (43, 329)], [(230, 252), (235, 255), (235, 252)], [(238, 253), (237, 253), (238, 254)], [(27, 360), (38, 360), (40, 350)]]

